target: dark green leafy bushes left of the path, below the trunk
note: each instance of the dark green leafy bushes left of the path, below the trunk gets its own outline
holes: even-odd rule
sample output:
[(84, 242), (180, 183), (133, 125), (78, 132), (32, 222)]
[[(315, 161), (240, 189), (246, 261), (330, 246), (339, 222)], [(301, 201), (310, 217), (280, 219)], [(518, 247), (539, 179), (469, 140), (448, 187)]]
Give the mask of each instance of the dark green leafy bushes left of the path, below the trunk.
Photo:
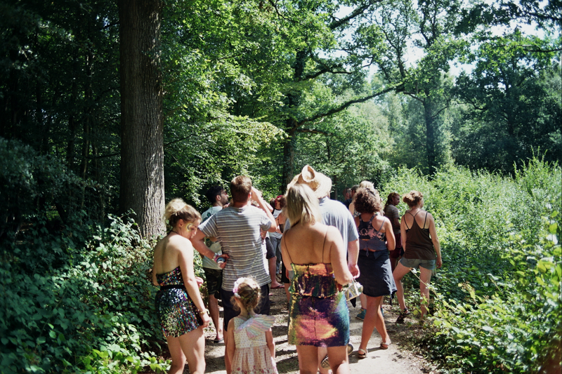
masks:
[(131, 220), (73, 222), (49, 232), (37, 217), (18, 241), (2, 243), (2, 370), (163, 370), (150, 352), (162, 340), (150, 243)]

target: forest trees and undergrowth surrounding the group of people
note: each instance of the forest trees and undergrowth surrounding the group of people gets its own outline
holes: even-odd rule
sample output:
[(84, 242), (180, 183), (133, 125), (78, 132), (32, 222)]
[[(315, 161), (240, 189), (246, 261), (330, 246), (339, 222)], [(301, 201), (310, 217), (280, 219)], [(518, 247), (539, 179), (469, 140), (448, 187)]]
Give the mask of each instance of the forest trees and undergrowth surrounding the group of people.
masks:
[(164, 202), (203, 211), (237, 174), (273, 197), (306, 164), (334, 199), (361, 180), (426, 196), (444, 265), (417, 344), (440, 370), (560, 368), (561, 14), (1, 0), (0, 371), (164, 368)]

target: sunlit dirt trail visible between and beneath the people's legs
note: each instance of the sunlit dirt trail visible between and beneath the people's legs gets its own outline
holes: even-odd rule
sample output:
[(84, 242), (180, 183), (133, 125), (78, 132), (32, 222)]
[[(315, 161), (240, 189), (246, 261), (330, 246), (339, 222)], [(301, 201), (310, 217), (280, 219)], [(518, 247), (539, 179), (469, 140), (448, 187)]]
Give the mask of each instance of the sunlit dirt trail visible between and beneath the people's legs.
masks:
[[(299, 359), (296, 356), (294, 345), (287, 344), (287, 299), (285, 298), (285, 290), (272, 290), (273, 296), (271, 300), (275, 302), (271, 307), (271, 314), (276, 316), (275, 325), (273, 326), (273, 337), (275, 340), (277, 370), (281, 374), (299, 373)], [(351, 305), (351, 343), (355, 347), (355, 351), (349, 357), (349, 363), (352, 374), (360, 373), (388, 373), (388, 374), (431, 374), (437, 373), (433, 366), (413, 352), (406, 350), (401, 344), (401, 340), (412, 329), (416, 329), (413, 320), (411, 323), (397, 325), (397, 315), (393, 313), (390, 305), (384, 305), (386, 329), (388, 335), (391, 336), (392, 344), (388, 349), (379, 349), (381, 344), (380, 335), (374, 330), (370, 339), (367, 350), (366, 359), (358, 360), (357, 349), (361, 340), (362, 321), (355, 319), (355, 315), (359, 312), (359, 308), (353, 308)], [(408, 321), (408, 320), (406, 320)], [(225, 374), (224, 366), (224, 345), (214, 345), (214, 330), (206, 332), (207, 342), (205, 348), (205, 359), (207, 361), (207, 370), (205, 373)], [(185, 366), (184, 373), (189, 373), (189, 369)]]

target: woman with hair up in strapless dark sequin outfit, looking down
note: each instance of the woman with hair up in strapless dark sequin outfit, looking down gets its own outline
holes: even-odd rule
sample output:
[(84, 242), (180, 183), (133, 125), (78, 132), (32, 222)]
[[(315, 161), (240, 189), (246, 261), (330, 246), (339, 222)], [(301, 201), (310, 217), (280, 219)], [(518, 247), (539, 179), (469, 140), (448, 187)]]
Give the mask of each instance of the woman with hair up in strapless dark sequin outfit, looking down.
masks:
[(193, 272), (193, 247), (189, 241), (197, 232), (201, 215), (183, 200), (174, 199), (166, 205), (164, 218), (173, 228), (156, 244), (152, 282), (160, 286), (156, 312), (171, 354), (168, 373), (183, 373), (187, 359), (190, 373), (203, 374), (203, 328), (211, 319)]

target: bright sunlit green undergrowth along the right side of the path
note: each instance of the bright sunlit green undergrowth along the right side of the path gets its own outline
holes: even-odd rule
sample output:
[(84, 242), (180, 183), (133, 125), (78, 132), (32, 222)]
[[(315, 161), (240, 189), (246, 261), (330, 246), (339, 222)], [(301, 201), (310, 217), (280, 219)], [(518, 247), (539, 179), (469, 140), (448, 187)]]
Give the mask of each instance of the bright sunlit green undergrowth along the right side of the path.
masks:
[(559, 366), (561, 168), (534, 158), (514, 178), (450, 167), (431, 180), (402, 169), (383, 196), (410, 189), (436, 218), (443, 256), (424, 342), (433, 359), (451, 373)]

